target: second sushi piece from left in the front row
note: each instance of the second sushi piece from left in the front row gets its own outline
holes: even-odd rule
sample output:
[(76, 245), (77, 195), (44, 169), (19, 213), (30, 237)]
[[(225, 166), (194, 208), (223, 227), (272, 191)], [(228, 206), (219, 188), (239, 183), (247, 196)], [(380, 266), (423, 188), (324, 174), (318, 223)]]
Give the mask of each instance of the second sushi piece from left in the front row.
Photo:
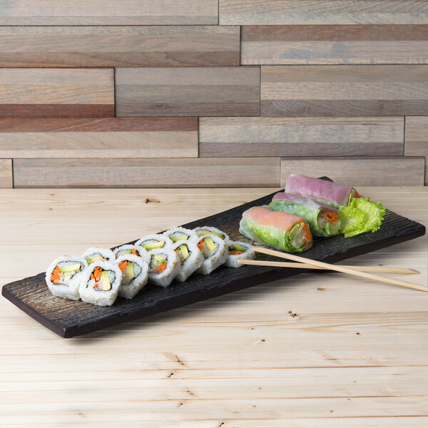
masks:
[(111, 306), (118, 297), (122, 272), (115, 262), (94, 262), (83, 273), (78, 290), (81, 300), (98, 306)]

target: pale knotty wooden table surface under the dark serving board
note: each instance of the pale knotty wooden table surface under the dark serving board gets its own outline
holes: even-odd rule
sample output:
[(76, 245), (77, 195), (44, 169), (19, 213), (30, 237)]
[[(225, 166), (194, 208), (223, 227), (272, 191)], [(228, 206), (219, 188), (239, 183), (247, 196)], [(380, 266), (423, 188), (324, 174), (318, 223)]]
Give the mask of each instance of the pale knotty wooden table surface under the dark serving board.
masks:
[[(0, 285), (274, 190), (0, 190)], [(428, 224), (428, 188), (358, 190)], [(342, 264), (427, 285), (427, 235)], [(428, 293), (307, 272), (68, 340), (0, 298), (0, 362), (0, 427), (422, 428)]]

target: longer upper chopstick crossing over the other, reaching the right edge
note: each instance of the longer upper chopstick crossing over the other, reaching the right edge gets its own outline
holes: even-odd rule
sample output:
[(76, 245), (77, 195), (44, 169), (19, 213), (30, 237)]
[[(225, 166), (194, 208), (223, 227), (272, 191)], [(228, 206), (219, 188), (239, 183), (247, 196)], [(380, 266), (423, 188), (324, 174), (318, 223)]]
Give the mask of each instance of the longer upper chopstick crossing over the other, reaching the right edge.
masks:
[(300, 257), (299, 255), (282, 253), (280, 251), (270, 250), (269, 248), (262, 248), (262, 247), (253, 247), (251, 248), (251, 250), (257, 251), (258, 253), (275, 255), (276, 257), (285, 258), (287, 260), (294, 260), (295, 262), (306, 263), (307, 265), (325, 267), (325, 269), (330, 269), (330, 270), (337, 270), (337, 272), (348, 273), (350, 275), (367, 278), (368, 280), (386, 282), (387, 284), (399, 285), (400, 287), (407, 287), (407, 288), (412, 288), (414, 290), (428, 292), (428, 287), (422, 287), (422, 285), (412, 284), (411, 282), (392, 280), (392, 279), (384, 278), (378, 275), (372, 275), (371, 273), (367, 273), (367, 272), (359, 272), (357, 270), (352, 270), (349, 267), (342, 267), (340, 265), (330, 265), (329, 263), (318, 262), (317, 260), (311, 260), (304, 257)]

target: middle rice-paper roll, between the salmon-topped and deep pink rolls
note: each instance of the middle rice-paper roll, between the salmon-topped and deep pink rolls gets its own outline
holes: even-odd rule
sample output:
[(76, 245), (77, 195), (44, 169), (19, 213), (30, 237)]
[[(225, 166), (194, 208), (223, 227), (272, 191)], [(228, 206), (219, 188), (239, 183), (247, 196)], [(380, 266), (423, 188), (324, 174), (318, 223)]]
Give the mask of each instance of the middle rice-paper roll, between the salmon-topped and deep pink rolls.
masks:
[(267, 208), (304, 218), (314, 236), (326, 237), (340, 233), (339, 211), (315, 199), (280, 192), (272, 198)]

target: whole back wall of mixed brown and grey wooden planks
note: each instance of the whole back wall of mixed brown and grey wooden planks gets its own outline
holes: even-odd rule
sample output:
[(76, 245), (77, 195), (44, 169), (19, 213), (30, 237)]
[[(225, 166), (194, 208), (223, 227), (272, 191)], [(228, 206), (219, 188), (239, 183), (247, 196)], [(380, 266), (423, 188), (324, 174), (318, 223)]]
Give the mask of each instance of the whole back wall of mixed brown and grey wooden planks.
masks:
[(0, 187), (428, 184), (428, 0), (8, 0)]

